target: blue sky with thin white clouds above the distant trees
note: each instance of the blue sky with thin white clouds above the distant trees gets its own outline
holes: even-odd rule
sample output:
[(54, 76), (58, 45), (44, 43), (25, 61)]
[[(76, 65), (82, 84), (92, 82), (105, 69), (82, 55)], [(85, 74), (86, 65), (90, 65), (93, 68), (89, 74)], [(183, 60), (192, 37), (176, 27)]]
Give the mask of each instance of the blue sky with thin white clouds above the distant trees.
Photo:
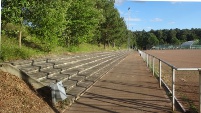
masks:
[(115, 7), (132, 31), (201, 28), (201, 2), (115, 0)]

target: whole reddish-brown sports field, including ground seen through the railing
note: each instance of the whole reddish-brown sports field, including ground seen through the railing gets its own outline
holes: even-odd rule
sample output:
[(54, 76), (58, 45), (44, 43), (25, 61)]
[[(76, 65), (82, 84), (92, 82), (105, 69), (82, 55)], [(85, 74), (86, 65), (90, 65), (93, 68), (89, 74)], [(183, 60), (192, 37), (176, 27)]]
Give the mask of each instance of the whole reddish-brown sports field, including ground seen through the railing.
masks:
[[(145, 51), (177, 68), (201, 68), (201, 50), (149, 50)], [(152, 57), (149, 57), (152, 61)], [(158, 70), (158, 60), (155, 69)], [(171, 67), (162, 63), (162, 79), (172, 89)], [(187, 111), (198, 111), (199, 107), (199, 72), (176, 71), (175, 95)]]

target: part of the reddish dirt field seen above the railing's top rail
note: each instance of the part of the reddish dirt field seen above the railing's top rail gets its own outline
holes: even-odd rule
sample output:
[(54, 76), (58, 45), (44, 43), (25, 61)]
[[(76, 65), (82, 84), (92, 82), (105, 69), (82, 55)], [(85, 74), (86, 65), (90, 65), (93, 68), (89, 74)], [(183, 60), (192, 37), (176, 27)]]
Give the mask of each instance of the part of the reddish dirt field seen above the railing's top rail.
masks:
[(150, 50), (145, 52), (177, 68), (201, 68), (201, 50)]

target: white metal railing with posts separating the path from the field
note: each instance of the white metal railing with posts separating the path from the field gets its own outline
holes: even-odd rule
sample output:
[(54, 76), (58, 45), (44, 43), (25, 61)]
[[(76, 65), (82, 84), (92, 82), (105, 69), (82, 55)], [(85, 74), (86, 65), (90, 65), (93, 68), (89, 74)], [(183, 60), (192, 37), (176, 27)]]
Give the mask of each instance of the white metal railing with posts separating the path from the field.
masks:
[[(172, 111), (175, 111), (175, 101), (179, 104), (179, 106), (182, 108), (182, 110), (184, 112), (186, 112), (186, 110), (182, 107), (181, 103), (178, 101), (178, 99), (175, 96), (175, 75), (176, 75), (176, 71), (199, 71), (199, 109), (198, 112), (201, 113), (201, 68), (177, 68), (171, 64), (169, 64), (168, 62), (157, 58), (156, 56), (150, 55), (148, 53), (145, 53), (141, 50), (138, 50), (140, 56), (143, 58), (143, 60), (146, 62), (147, 67), (149, 67), (151, 69), (151, 71), (153, 72), (153, 75), (157, 74), (155, 72), (155, 60), (157, 59), (159, 61), (159, 67), (158, 67), (158, 77), (159, 77), (159, 87), (161, 88), (161, 84), (163, 83), (165, 85), (165, 87), (169, 90), (169, 93), (171, 93), (172, 95)], [(150, 61), (150, 58), (152, 57), (152, 61)], [(171, 68), (171, 72), (172, 72), (172, 81), (171, 81), (171, 90), (170, 88), (166, 85), (166, 83), (164, 82), (164, 80), (162, 80), (162, 63), (166, 64), (167, 66), (169, 66)]]

